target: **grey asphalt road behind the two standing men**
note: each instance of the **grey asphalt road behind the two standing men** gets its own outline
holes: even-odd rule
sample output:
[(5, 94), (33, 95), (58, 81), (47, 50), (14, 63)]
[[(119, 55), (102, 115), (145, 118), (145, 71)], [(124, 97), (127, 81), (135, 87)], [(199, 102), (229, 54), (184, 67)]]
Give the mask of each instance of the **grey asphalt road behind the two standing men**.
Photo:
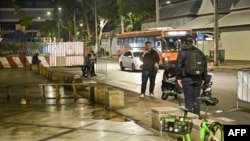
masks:
[[(140, 93), (141, 71), (132, 71), (125, 69), (121, 71), (116, 61), (108, 61), (107, 68), (104, 73), (99, 73), (95, 79), (101, 80), (107, 84), (128, 89), (136, 93)], [(160, 69), (156, 78), (155, 97), (161, 97), (161, 81), (164, 70)], [(237, 99), (237, 70), (215, 69), (212, 71), (213, 96), (219, 99), (216, 106), (208, 108), (208, 114), (220, 118), (225, 122), (232, 124), (249, 124), (250, 121), (250, 103), (238, 101)], [(147, 87), (148, 90), (149, 87)], [(147, 94), (147, 92), (146, 92)], [(178, 104), (179, 101), (174, 97), (167, 99), (169, 102)], [(237, 106), (238, 101), (238, 106)], [(180, 102), (183, 104), (183, 94), (180, 95)], [(204, 105), (201, 106), (202, 111), (205, 111)]]

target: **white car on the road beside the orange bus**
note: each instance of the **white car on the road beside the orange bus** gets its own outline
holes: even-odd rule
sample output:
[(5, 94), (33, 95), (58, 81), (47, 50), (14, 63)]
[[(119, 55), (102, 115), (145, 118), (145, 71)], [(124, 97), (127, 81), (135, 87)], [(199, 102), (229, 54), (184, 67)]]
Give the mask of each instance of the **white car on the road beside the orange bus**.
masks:
[(131, 68), (133, 71), (141, 70), (143, 62), (141, 61), (142, 51), (129, 50), (119, 58), (120, 68), (123, 71), (125, 68)]

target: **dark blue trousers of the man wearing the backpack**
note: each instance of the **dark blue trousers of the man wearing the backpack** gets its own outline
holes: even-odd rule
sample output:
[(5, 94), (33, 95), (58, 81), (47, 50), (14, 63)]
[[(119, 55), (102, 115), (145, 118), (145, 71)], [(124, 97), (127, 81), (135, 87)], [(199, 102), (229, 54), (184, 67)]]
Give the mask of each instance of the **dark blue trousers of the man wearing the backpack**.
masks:
[(201, 81), (193, 81), (190, 78), (182, 79), (185, 107), (194, 114), (200, 115), (200, 100), (197, 98), (201, 92)]

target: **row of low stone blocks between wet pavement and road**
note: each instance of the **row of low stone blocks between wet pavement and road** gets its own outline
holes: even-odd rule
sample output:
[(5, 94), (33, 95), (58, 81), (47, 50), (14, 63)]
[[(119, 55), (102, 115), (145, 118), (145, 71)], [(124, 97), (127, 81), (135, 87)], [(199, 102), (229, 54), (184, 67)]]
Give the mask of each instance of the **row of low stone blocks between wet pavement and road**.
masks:
[[(83, 83), (85, 83), (85, 81), (91, 80), (88, 78), (81, 78), (80, 76), (68, 72), (50, 70), (49, 68), (43, 66), (34, 66), (34, 68), (31, 70), (36, 71), (38, 74), (46, 76), (48, 80), (57, 82), (58, 85), (62, 85), (67, 89), (75, 91), (74, 93), (79, 90), (87, 90), (88, 99), (90, 101), (103, 104), (107, 108), (112, 109), (124, 107), (124, 92), (122, 90), (107, 87), (107, 85), (100, 84), (84, 85)], [(71, 83), (72, 85), (70, 85)]]

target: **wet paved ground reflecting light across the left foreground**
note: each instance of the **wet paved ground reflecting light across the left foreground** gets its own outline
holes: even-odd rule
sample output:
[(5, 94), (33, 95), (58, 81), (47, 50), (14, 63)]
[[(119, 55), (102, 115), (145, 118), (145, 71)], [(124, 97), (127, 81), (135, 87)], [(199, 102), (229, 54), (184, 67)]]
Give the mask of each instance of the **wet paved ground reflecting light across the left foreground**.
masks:
[[(248, 65), (249, 66), (249, 65)], [(246, 64), (218, 66), (217, 69), (239, 69)], [(76, 74), (78, 69), (51, 68)], [(98, 75), (100, 80), (105, 76)], [(55, 88), (46, 88), (47, 100), (41, 103), (39, 83), (50, 81), (34, 71), (26, 69), (0, 70), (0, 137), (1, 140), (47, 141), (165, 141), (167, 135), (152, 129), (152, 107), (176, 107), (178, 104), (159, 98), (138, 98), (139, 94), (122, 89), (125, 107), (107, 109), (104, 105), (87, 99), (87, 91), (78, 92), (75, 103), (72, 90), (60, 88), (60, 103), (55, 100)], [(5, 84), (11, 84), (11, 100), (6, 100)], [(110, 84), (105, 84), (110, 85)], [(29, 86), (30, 100), (20, 104)], [(114, 86), (115, 87), (115, 86)]]

